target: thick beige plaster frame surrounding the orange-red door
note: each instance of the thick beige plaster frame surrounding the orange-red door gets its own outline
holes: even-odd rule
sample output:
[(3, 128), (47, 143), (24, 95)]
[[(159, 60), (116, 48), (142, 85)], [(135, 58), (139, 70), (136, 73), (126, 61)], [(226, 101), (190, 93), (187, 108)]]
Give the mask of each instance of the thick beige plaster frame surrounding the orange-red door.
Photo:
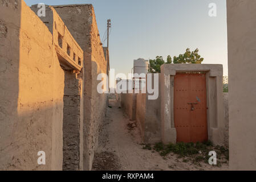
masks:
[(176, 143), (174, 127), (174, 76), (178, 72), (206, 72), (208, 139), (224, 144), (223, 67), (220, 64), (164, 64), (160, 73), (161, 139)]

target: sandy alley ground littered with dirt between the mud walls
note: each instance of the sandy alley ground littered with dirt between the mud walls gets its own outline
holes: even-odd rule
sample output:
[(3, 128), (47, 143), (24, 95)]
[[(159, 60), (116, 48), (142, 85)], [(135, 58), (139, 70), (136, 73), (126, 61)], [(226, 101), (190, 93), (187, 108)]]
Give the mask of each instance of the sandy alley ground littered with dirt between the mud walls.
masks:
[[(129, 121), (119, 103), (109, 99), (105, 122), (101, 126), (99, 147), (97, 148), (93, 170), (227, 170), (227, 164), (212, 167), (201, 163), (201, 166), (182, 162), (176, 155), (170, 154), (163, 159), (157, 152), (144, 150), (141, 145), (139, 129), (134, 121)], [(129, 127), (130, 126), (130, 127)], [(133, 126), (133, 128), (131, 128)]]

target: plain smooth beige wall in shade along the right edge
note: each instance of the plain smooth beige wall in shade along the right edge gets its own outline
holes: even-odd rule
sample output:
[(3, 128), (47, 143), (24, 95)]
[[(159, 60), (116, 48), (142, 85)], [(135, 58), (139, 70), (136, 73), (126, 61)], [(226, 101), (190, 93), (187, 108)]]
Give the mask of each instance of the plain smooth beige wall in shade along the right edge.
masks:
[(231, 170), (256, 170), (256, 1), (227, 1)]

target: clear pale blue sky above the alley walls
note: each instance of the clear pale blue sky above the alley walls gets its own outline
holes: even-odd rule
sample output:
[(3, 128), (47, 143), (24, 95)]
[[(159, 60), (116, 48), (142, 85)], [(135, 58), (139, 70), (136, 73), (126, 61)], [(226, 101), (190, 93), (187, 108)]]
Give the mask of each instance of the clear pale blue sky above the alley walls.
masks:
[[(223, 64), (227, 75), (226, 1), (224, 0), (25, 0), (27, 5), (94, 5), (101, 41), (111, 19), (110, 67), (131, 73), (133, 60), (178, 56), (198, 48), (205, 64)], [(217, 16), (210, 17), (209, 3)], [(104, 46), (107, 41), (104, 42)]]

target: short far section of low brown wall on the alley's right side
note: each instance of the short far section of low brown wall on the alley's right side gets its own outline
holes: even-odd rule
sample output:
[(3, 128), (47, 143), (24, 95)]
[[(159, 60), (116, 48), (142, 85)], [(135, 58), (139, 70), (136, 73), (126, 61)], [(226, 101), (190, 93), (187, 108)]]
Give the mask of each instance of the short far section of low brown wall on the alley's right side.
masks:
[(121, 107), (124, 109), (125, 113), (128, 115), (129, 119), (136, 119), (136, 100), (137, 94), (134, 93), (121, 93), (120, 94)]

